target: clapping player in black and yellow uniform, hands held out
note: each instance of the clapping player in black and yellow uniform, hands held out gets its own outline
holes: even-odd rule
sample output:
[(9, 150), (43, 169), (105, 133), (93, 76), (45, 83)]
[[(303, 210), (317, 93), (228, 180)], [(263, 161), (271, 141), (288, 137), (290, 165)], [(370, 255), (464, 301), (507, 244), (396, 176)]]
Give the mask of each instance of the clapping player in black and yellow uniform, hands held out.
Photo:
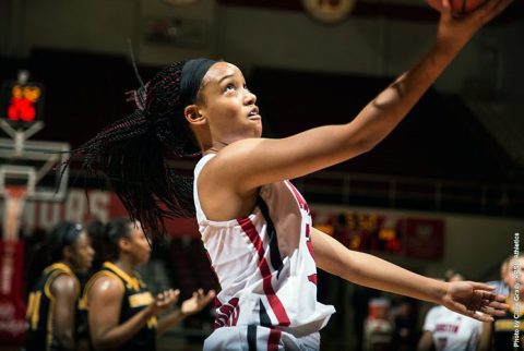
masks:
[(215, 296), (213, 290), (207, 294), (199, 290), (180, 310), (157, 320), (159, 314), (171, 310), (179, 291), (170, 289), (154, 298), (135, 271), (148, 262), (151, 252), (140, 225), (128, 218), (114, 219), (105, 234), (111, 261), (90, 279), (82, 298), (95, 350), (156, 350), (157, 337)]

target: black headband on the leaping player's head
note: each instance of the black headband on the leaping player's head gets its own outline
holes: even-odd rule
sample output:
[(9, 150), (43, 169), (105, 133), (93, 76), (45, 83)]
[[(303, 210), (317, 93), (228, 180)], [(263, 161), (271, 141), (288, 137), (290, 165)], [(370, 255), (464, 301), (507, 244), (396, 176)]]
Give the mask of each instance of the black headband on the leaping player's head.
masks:
[(180, 81), (180, 101), (182, 106), (194, 104), (202, 80), (210, 68), (217, 61), (211, 59), (193, 59), (183, 64)]

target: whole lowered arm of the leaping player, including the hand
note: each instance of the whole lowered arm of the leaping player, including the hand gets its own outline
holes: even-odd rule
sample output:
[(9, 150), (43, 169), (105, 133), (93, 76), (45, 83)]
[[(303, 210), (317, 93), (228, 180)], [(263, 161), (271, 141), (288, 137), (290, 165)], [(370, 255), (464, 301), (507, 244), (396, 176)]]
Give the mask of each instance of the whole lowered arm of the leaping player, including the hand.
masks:
[[(345, 280), (415, 299), (429, 301), (467, 315), (491, 322), (508, 305), (488, 285), (474, 281), (444, 282), (417, 275), (379, 257), (352, 251), (318, 229), (311, 230), (317, 266)], [(483, 314), (476, 313), (477, 311)]]

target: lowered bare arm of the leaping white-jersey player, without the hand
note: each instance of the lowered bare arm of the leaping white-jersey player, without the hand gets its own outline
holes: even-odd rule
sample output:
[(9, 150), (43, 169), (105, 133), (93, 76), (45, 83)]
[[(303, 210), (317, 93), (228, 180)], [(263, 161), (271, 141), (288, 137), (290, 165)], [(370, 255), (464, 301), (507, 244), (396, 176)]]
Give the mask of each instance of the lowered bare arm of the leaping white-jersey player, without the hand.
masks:
[(441, 303), (446, 283), (422, 277), (379, 257), (350, 251), (335, 239), (313, 230), (317, 265), (345, 280), (433, 303)]

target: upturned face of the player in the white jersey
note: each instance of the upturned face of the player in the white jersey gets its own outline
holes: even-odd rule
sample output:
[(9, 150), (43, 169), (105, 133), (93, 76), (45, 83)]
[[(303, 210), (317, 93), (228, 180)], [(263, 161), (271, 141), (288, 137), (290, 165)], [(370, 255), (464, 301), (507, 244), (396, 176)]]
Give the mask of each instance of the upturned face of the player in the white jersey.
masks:
[(255, 102), (257, 96), (248, 89), (242, 72), (234, 64), (217, 62), (203, 78), (198, 107), (213, 142), (230, 144), (262, 135)]

